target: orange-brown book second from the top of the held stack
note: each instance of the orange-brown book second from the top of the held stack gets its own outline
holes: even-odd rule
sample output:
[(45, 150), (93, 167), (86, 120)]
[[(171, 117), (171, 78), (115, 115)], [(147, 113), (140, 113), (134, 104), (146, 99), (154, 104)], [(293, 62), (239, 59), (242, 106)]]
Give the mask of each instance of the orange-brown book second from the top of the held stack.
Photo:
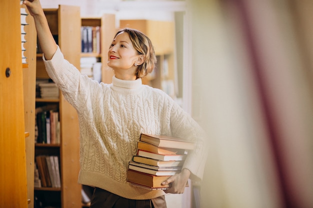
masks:
[(138, 150), (144, 150), (144, 151), (148, 151), (151, 153), (156, 153), (156, 154), (162, 154), (162, 155), (181, 155), (184, 154), (184, 150), (182, 149), (176, 149), (176, 148), (160, 148), (157, 147), (155, 145), (146, 143), (146, 142), (140, 142), (138, 141), (137, 143), (137, 149)]

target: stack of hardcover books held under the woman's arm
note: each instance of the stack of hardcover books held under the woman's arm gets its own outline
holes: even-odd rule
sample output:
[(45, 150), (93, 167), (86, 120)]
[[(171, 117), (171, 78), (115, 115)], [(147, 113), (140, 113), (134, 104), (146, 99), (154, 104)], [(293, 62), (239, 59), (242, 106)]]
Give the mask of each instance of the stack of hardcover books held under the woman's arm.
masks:
[(137, 154), (128, 165), (127, 182), (149, 190), (168, 189), (161, 183), (181, 171), (186, 151), (193, 148), (194, 143), (180, 138), (141, 134)]

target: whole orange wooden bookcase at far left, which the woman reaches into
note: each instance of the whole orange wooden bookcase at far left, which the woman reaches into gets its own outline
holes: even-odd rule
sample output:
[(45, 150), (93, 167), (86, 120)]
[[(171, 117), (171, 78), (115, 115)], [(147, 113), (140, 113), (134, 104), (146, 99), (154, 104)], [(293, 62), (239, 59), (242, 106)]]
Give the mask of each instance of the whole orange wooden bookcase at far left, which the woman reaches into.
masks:
[(22, 64), (22, 7), (17, 1), (0, 6), (0, 207), (5, 208), (33, 207), (35, 33), (28, 15)]

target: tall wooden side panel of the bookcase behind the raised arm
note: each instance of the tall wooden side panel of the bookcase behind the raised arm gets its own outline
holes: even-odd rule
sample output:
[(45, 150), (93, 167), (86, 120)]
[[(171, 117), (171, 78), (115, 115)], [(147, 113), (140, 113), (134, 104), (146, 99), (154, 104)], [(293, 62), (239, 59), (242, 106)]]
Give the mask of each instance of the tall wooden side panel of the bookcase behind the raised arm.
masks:
[[(58, 40), (60, 49), (70, 63), (80, 67), (80, 8), (59, 5)], [(61, 180), (63, 208), (81, 206), (81, 186), (77, 183), (79, 172), (79, 131), (78, 118), (74, 108), (60, 99), (61, 123)]]

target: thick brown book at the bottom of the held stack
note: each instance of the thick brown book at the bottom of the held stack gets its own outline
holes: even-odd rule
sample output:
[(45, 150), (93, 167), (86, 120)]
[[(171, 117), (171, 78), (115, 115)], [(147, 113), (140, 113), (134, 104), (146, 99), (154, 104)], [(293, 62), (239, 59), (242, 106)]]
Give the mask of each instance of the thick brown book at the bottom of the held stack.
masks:
[(154, 176), (138, 171), (127, 170), (127, 182), (142, 185), (148, 188), (168, 188), (169, 185), (161, 185), (170, 176)]

